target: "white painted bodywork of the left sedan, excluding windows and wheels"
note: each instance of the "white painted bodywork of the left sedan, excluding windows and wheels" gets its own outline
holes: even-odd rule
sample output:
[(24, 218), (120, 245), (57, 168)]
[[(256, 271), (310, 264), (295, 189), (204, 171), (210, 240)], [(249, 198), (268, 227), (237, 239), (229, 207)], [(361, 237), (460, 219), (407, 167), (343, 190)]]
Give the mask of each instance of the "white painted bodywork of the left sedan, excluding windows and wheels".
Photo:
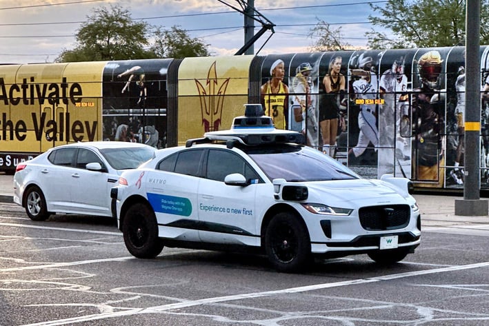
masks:
[[(62, 147), (90, 150), (101, 160), (106, 170), (87, 170), (51, 163), (48, 160), (50, 153)], [(119, 141), (95, 141), (53, 147), (34, 159), (21, 163), (26, 167), (14, 174), (14, 203), (24, 206), (26, 190), (36, 185), (41, 190), (46, 201), (46, 210), (50, 213), (112, 216), (110, 190), (119, 184), (122, 170), (110, 166), (98, 150), (121, 147), (128, 150), (145, 148), (151, 153), (155, 150), (147, 145)]]

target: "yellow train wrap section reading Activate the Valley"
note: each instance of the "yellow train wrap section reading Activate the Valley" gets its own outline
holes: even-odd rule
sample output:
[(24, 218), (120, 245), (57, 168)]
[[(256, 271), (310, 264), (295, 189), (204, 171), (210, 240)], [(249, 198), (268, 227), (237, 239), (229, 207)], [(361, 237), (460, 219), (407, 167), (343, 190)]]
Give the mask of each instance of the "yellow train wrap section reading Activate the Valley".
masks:
[(102, 66), (1, 66), (0, 168), (11, 170), (55, 145), (99, 140)]

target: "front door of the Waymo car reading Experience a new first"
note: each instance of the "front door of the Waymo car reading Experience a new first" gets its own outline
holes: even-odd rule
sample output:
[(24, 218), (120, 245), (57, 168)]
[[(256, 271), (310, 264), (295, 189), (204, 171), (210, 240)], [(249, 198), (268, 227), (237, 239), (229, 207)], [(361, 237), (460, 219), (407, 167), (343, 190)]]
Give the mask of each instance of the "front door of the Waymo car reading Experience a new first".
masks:
[[(201, 240), (238, 244), (259, 241), (255, 209), (259, 176), (256, 172), (243, 156), (226, 149), (209, 150), (204, 170), (206, 178), (199, 183)], [(233, 173), (242, 174), (251, 184), (226, 185), (224, 178)]]

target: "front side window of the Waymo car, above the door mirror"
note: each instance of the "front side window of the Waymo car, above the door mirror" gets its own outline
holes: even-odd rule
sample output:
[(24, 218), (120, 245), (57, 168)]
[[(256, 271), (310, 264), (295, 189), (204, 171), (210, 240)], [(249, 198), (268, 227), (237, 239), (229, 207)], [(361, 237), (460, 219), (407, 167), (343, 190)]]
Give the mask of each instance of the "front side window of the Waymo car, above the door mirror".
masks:
[(226, 150), (210, 150), (207, 160), (207, 178), (224, 181), (224, 178), (232, 173), (243, 174), (247, 180), (259, 179), (256, 172), (241, 156)]

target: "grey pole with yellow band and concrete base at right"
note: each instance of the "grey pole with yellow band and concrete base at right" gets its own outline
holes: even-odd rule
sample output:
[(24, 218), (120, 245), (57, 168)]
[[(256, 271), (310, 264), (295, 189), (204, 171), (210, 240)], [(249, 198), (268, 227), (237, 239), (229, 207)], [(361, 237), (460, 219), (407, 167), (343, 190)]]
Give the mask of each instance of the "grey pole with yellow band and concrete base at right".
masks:
[(481, 190), (481, 72), (480, 52), (481, 1), (467, 0), (466, 3), (466, 110), (465, 110), (465, 153), (463, 167), (463, 200), (455, 200), (455, 215), (488, 215), (488, 201), (480, 199)]

